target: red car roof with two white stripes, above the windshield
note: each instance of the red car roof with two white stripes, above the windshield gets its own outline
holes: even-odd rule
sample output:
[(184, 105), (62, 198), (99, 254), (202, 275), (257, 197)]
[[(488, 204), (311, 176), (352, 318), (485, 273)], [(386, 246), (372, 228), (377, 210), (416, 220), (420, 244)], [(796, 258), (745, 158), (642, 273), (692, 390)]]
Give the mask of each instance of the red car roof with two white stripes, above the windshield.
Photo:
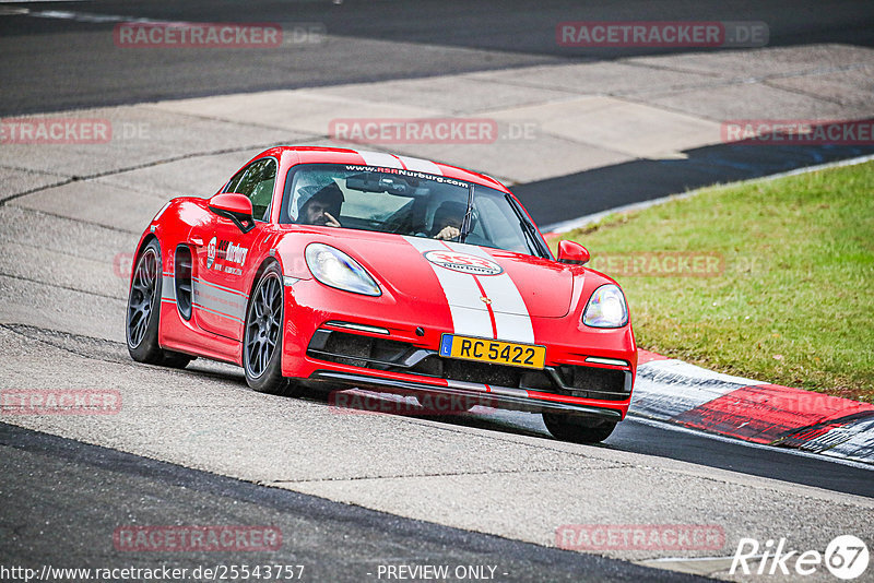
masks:
[(474, 182), (500, 190), (501, 192), (509, 192), (507, 187), (484, 174), (400, 154), (352, 150), (346, 147), (276, 146), (262, 152), (259, 156), (264, 155), (275, 156), (276, 158), (292, 157), (292, 164), (354, 164), (357, 166), (418, 171)]

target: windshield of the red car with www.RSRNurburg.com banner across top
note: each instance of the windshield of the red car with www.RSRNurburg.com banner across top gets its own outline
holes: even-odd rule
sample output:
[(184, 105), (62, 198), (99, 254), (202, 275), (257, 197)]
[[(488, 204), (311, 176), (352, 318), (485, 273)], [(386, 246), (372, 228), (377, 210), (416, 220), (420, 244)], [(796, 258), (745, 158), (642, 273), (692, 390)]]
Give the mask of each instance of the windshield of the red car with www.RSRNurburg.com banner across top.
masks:
[(286, 178), (280, 222), (393, 233), (551, 257), (512, 197), (415, 170), (352, 164), (295, 166)]

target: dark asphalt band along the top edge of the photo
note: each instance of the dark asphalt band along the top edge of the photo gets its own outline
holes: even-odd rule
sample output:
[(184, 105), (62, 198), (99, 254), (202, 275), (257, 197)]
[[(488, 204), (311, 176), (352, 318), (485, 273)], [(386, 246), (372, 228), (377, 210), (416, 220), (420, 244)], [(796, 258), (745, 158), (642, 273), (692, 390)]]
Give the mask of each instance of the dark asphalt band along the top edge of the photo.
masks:
[[(333, 85), (539, 63), (671, 52), (574, 49), (556, 44), (566, 21), (760, 21), (768, 46), (874, 46), (874, 3), (770, 0), (622, 3), (522, 0), (32, 2), (0, 4), (0, 115)], [(329, 43), (279, 49), (131, 49), (106, 35), (117, 21), (15, 15), (68, 11), (188, 22), (324, 26)], [(673, 49), (674, 52), (686, 49)], [(156, 66), (156, 63), (158, 63)]]

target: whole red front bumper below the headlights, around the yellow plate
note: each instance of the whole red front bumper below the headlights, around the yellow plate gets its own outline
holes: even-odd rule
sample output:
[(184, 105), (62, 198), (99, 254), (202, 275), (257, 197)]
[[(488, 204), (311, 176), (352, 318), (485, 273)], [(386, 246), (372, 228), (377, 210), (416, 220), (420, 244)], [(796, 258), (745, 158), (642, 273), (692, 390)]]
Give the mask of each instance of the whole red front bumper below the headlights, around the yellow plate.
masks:
[(282, 371), (298, 381), (329, 390), (487, 398), (495, 408), (610, 420), (628, 411), (637, 366), (630, 326), (580, 331), (572, 318), (532, 318), (536, 336), (554, 340), (546, 343), (545, 369), (519, 369), (440, 357), (441, 333), (452, 330), (445, 308), (358, 297), (315, 282), (286, 290)]

